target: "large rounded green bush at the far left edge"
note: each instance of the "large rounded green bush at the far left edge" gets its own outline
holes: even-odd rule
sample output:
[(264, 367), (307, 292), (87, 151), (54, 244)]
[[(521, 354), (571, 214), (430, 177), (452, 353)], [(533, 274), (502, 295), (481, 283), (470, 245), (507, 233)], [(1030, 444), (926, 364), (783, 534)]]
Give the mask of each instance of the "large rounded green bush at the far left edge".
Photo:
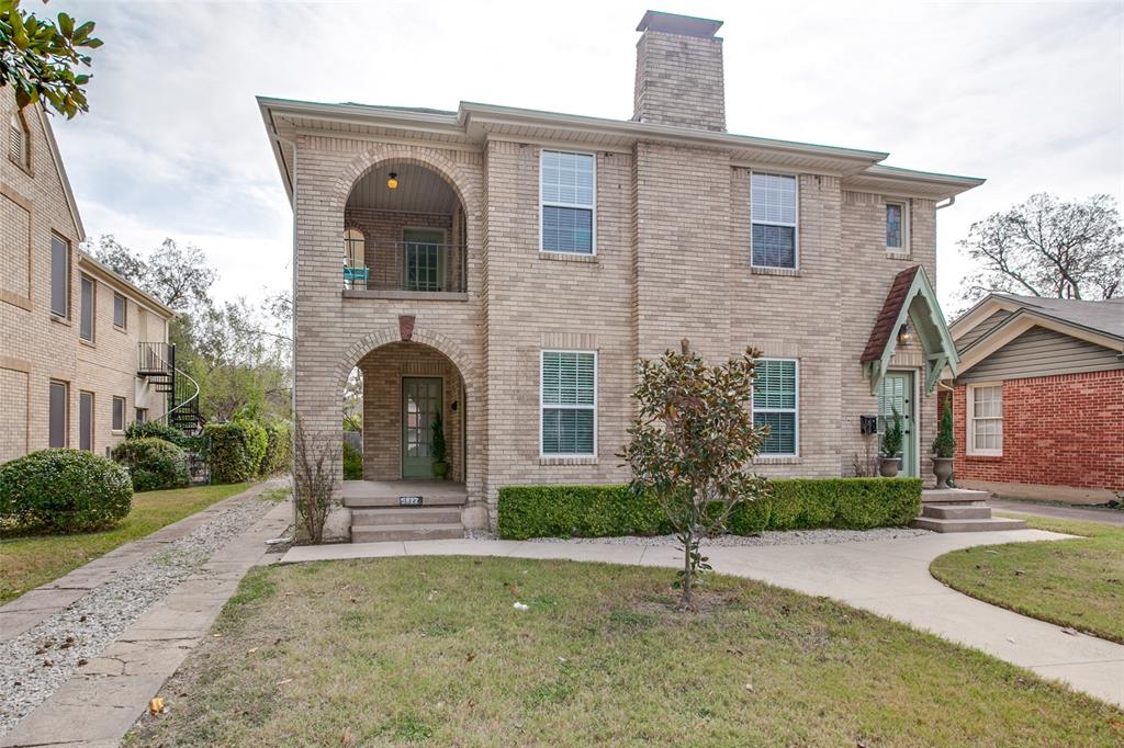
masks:
[(0, 521), (46, 532), (111, 527), (133, 507), (121, 465), (78, 449), (44, 449), (0, 466)]

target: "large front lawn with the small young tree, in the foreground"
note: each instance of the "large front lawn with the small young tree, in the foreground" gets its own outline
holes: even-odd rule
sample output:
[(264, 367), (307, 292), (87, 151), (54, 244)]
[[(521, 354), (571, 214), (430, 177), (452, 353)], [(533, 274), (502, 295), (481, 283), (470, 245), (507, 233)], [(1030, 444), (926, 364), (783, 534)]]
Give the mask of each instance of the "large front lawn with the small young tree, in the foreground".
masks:
[(672, 578), (513, 558), (259, 567), (126, 745), (1124, 740), (1124, 712), (982, 653), (734, 577), (683, 614)]

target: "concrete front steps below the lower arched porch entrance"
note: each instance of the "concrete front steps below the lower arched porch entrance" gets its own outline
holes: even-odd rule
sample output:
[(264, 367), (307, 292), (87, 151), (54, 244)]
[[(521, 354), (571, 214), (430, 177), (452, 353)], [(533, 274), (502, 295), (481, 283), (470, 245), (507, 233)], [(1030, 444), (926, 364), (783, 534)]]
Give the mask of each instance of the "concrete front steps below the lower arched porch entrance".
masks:
[[(352, 510), (352, 542), (446, 540), (463, 538), (462, 486), (436, 482), (354, 482), (344, 505)], [(350, 489), (350, 490), (347, 490)], [(400, 496), (422, 496), (420, 507), (402, 507)]]

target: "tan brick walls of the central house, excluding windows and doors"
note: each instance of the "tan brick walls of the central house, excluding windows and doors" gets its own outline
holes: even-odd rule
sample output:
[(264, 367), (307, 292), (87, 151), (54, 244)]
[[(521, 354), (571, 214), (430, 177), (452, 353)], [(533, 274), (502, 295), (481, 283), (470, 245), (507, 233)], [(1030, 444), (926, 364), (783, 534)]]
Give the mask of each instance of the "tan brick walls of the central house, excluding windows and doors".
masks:
[[(405, 372), (428, 371), (441, 372), (446, 382), (459, 375), (463, 383), (463, 421), (456, 420), (464, 428), (457, 446), (463, 454), (453, 458), (453, 471), (456, 480), (464, 476), (466, 522), (488, 516), (495, 521), (497, 492), (505, 485), (627, 480), (615, 455), (633, 413), (635, 362), (678, 347), (683, 337), (710, 361), (749, 345), (769, 357), (798, 359), (798, 454), (760, 458), (762, 473), (853, 473), (855, 456), (865, 449), (859, 417), (878, 410), (860, 364), (867, 338), (899, 271), (921, 263), (936, 277), (936, 204), (978, 181), (919, 172), (898, 176), (871, 171), (886, 154), (715, 133), (720, 108), (668, 133), (667, 124), (680, 115), (651, 91), (673, 91), (713, 73), (716, 54), (718, 82), (711, 90), (720, 92), (720, 44), (671, 39), (676, 54), (690, 60), (680, 65), (669, 54), (653, 67), (644, 55), (655, 42), (664, 43), (656, 36), (645, 34), (651, 38), (642, 39), (637, 62), (644, 77), (641, 83), (647, 86), (643, 100), (667, 115), (655, 129), (592, 119), (574, 124), (574, 118), (484, 104), (443, 115), (262, 101), (266, 119), (278, 127), (273, 147), (282, 173), (297, 164), (288, 182), (296, 220), (296, 412), (311, 430), (335, 438), (344, 382), (359, 364), (370, 475), (397, 477), (398, 383)], [(650, 80), (652, 70), (663, 77)], [(637, 111), (640, 101), (637, 94)], [(336, 121), (359, 134), (341, 131)], [(591, 254), (540, 250), (544, 147), (593, 155)], [(362, 220), (361, 211), (345, 212), (352, 186), (372, 168), (404, 164), (432, 170), (460, 198), (468, 248), (463, 295), (343, 290), (343, 230)], [(796, 268), (751, 266), (754, 172), (797, 177)], [(906, 250), (887, 250), (887, 199), (908, 206)], [(383, 228), (369, 220), (366, 230), (398, 230), (386, 217), (380, 220)], [(413, 318), (408, 343), (402, 318)], [(541, 355), (552, 349), (597, 354), (593, 455), (541, 454)], [(921, 381), (924, 363), (921, 348), (904, 347), (892, 367), (913, 371)], [(928, 395), (919, 400), (914, 408), (919, 428), (912, 436), (925, 455), (935, 408)], [(921, 474), (928, 474), (926, 459)]]

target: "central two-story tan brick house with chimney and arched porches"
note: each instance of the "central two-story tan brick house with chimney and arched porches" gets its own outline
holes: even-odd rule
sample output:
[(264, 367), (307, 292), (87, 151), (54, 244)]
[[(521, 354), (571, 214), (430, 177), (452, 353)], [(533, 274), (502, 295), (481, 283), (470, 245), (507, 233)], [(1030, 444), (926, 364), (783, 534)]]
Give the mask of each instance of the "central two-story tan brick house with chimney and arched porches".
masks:
[[(854, 474), (877, 453), (861, 417), (896, 407), (904, 472), (928, 475), (957, 362), (936, 211), (981, 181), (727, 133), (719, 26), (644, 16), (627, 120), (259, 100), (294, 212), (306, 429), (338, 435), (364, 377), (368, 481), (344, 484), (336, 532), (455, 535), (505, 485), (627, 480), (635, 362), (685, 337), (764, 352), (761, 473)], [(436, 412), (450, 481), (400, 483), (433, 475)], [(414, 494), (435, 505), (374, 509)]]

